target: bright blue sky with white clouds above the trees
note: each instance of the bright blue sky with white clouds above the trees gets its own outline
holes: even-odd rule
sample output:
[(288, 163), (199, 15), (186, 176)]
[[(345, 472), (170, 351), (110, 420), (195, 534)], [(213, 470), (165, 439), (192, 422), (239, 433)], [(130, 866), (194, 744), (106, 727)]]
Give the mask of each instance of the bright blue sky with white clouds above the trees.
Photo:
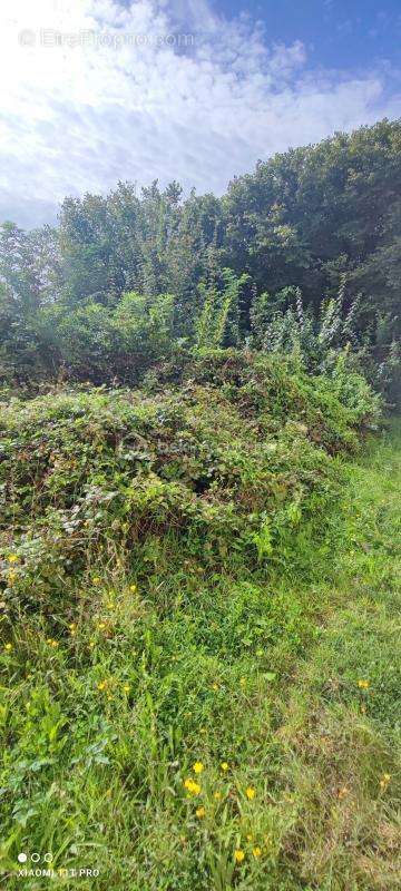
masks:
[(1, 0), (0, 219), (126, 179), (222, 194), (401, 117), (400, 47), (395, 0)]

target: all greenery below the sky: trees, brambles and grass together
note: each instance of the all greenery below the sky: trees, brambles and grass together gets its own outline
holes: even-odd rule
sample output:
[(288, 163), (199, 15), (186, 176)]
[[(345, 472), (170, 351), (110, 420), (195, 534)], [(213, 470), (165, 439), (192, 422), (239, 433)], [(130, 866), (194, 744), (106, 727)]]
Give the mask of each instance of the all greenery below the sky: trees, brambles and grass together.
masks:
[(3, 227), (8, 888), (399, 887), (399, 139)]

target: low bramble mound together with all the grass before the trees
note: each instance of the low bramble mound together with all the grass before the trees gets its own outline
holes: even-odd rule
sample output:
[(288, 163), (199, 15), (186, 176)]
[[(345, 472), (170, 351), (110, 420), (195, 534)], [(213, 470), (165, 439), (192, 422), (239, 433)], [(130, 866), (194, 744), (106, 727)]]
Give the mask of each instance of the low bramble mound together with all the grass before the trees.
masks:
[(36, 851), (60, 887), (397, 888), (400, 466), (355, 464), (369, 388), (205, 352), (0, 422), (7, 887), (48, 887)]

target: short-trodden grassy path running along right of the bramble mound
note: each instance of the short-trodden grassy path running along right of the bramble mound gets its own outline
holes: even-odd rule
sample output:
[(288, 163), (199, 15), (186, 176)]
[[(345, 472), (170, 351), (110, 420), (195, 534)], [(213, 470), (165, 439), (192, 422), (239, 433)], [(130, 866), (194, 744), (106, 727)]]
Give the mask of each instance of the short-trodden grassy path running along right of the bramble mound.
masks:
[(288, 851), (295, 888), (384, 891), (401, 887), (400, 430), (349, 480), (321, 639), (278, 731), (296, 810)]

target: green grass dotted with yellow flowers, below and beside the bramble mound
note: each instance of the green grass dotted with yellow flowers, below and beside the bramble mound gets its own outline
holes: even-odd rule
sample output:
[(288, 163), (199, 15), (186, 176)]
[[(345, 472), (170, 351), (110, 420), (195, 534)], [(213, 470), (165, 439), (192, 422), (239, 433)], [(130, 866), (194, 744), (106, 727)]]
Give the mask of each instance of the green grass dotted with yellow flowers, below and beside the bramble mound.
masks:
[(267, 568), (150, 537), (6, 616), (1, 888), (400, 887), (400, 431), (340, 472)]

